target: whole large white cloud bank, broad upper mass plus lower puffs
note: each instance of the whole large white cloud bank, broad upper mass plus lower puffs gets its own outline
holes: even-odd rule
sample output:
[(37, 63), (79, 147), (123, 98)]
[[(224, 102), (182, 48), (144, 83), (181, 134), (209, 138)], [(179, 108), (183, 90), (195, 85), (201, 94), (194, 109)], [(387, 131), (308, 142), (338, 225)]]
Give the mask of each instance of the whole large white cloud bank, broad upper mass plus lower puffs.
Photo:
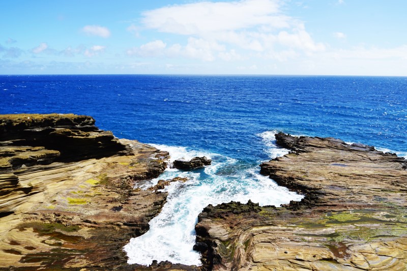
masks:
[[(312, 39), (303, 22), (284, 14), (281, 3), (281, 0), (198, 2), (146, 11), (141, 20), (144, 27), (186, 36), (185, 43), (147, 50), (146, 46), (158, 45), (152, 42), (127, 53), (231, 61), (252, 53), (264, 57), (287, 50), (290, 55), (297, 55), (293, 50), (305, 54), (324, 51), (326, 46)], [(134, 25), (128, 27), (131, 32), (137, 29)]]

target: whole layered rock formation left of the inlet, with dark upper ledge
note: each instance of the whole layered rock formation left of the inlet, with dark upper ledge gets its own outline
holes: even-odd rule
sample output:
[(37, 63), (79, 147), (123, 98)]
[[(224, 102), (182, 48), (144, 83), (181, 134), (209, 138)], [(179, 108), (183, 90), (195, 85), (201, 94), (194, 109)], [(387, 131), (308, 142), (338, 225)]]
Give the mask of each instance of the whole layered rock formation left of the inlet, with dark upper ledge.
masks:
[(168, 153), (94, 124), (0, 115), (0, 269), (136, 269), (122, 248), (149, 229), (167, 193), (133, 187), (161, 174)]

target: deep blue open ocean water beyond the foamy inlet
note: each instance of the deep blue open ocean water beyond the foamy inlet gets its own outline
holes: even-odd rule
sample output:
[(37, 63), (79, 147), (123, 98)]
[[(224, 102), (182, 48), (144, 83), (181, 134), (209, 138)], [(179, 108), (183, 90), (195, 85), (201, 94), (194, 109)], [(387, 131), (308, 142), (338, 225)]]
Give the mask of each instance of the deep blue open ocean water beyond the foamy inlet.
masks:
[(0, 76), (0, 113), (76, 113), (118, 137), (267, 159), (258, 133), (407, 152), (407, 77)]

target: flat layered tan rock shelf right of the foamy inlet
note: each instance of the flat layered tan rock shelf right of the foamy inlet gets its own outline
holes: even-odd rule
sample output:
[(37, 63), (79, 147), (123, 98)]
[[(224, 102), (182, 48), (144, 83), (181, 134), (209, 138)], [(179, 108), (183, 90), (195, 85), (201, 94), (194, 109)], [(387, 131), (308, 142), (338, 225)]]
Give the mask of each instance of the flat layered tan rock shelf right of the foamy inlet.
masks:
[(276, 139), (292, 152), (261, 164), (261, 173), (304, 198), (203, 209), (195, 227), (202, 268), (405, 270), (406, 161), (334, 138)]

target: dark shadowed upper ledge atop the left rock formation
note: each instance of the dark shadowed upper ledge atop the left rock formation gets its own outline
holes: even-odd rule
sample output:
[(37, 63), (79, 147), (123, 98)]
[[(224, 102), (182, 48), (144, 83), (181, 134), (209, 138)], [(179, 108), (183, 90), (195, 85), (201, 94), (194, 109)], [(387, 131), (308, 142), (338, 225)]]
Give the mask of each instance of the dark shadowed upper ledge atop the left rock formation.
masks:
[[(99, 130), (95, 119), (74, 114), (0, 115), (0, 144), (54, 150), (61, 154), (52, 157), (55, 161), (130, 154), (111, 132)], [(20, 160), (15, 162), (16, 166), (21, 165)]]

